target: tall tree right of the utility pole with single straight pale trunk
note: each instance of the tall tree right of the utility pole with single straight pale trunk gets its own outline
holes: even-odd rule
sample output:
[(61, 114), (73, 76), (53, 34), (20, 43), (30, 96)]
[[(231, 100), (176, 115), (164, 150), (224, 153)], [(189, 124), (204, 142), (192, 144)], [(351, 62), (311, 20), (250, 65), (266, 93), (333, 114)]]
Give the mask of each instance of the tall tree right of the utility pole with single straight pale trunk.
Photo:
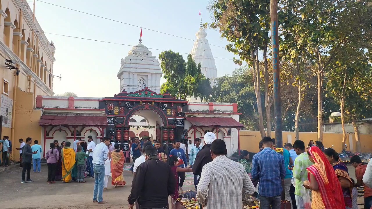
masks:
[(371, 5), (368, 0), (325, 0), (321, 3), (283, 0), (281, 5), (281, 42), (286, 43), (290, 54), (297, 54), (301, 49), (300, 55), (310, 61), (317, 74), (318, 140), (322, 141), (323, 75), (345, 46), (362, 37), (370, 43), (367, 40), (371, 34), (365, 35), (371, 33), (371, 21), (367, 21), (371, 19)]

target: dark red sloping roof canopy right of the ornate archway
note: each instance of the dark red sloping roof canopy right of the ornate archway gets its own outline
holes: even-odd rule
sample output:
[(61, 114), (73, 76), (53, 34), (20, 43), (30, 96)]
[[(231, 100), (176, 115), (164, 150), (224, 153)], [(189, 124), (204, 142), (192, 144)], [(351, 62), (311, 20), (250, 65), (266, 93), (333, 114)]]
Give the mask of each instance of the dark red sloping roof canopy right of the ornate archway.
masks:
[(207, 118), (207, 117), (186, 117), (194, 126), (219, 126), (227, 128), (240, 128), (244, 127), (243, 124), (236, 121), (234, 118)]

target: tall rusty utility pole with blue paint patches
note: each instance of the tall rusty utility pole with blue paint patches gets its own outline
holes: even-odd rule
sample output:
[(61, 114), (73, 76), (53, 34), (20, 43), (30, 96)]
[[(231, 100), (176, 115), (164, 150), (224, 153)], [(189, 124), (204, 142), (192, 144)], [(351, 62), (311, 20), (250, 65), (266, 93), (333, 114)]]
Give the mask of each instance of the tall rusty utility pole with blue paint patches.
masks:
[(273, 89), (275, 115), (275, 142), (277, 148), (283, 147), (282, 135), (282, 106), (280, 102), (279, 76), (279, 35), (278, 35), (278, 0), (270, 0), (271, 40), (273, 59)]

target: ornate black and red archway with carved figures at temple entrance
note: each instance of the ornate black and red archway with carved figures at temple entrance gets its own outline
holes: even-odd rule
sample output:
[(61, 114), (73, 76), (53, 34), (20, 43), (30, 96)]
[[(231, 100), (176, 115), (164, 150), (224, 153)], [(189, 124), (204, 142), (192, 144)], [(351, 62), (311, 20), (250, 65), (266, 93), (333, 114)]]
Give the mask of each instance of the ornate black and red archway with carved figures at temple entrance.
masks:
[(113, 97), (105, 97), (100, 100), (100, 109), (105, 109), (107, 114), (106, 136), (117, 142), (123, 151), (129, 151), (129, 129), (137, 129), (129, 125), (133, 115), (151, 120), (150, 127), (138, 128), (145, 128), (152, 138), (165, 143), (181, 137), (188, 105), (186, 100), (176, 99), (168, 93), (158, 94), (145, 87), (134, 93), (123, 90)]

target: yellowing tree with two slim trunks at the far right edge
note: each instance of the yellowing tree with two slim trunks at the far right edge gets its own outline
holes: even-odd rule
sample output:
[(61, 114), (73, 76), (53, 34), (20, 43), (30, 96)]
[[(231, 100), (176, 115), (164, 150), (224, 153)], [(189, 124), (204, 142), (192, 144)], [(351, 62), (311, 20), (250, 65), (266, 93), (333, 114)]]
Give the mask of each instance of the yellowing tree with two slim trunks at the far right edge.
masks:
[[(348, 50), (349, 49), (349, 50)], [(369, 57), (363, 49), (349, 47), (337, 56), (332, 63), (333, 70), (328, 74), (327, 89), (340, 105), (341, 127), (343, 132), (342, 144), (346, 141), (344, 124), (352, 120), (360, 151), (359, 130), (356, 120), (363, 118), (368, 112), (372, 99), (371, 64)]]

